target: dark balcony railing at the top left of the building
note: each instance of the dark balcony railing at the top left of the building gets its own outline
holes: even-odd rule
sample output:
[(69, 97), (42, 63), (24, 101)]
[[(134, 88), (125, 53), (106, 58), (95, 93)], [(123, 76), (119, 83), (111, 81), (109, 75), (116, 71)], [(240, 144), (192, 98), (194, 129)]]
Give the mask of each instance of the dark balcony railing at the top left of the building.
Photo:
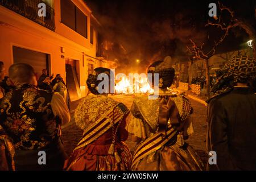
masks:
[(41, 0), (0, 0), (0, 5), (14, 11), (15, 13), (25, 16), (28, 19), (31, 19), (38, 24), (41, 24), (49, 30), (55, 31), (55, 13), (51, 6), (48, 6), (45, 3), (46, 16), (38, 16), (38, 4), (42, 2), (43, 1)]

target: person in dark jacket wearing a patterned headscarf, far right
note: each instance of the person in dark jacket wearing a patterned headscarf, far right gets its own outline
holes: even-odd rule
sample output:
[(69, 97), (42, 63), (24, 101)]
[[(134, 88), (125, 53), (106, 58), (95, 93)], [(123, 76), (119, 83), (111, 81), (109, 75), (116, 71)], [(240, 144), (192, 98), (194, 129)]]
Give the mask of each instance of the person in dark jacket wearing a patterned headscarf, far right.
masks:
[(217, 164), (210, 170), (256, 170), (256, 94), (249, 85), (255, 71), (253, 58), (234, 57), (213, 86), (207, 147)]

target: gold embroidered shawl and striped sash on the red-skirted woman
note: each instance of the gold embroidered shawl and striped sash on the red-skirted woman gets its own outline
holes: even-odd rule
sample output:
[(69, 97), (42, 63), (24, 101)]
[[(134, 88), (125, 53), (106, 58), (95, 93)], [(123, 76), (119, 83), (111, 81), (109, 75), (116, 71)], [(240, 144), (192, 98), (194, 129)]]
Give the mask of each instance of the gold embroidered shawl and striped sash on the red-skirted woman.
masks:
[[(115, 110), (114, 123), (122, 120), (128, 110), (126, 108), (126, 111), (123, 112), (121, 108), (117, 107), (118, 105), (119, 102), (106, 96), (89, 96), (80, 102), (75, 111), (75, 122), (86, 135), (77, 144), (75, 150), (93, 142), (112, 127), (110, 123), (112, 123), (113, 117), (109, 117), (109, 115), (113, 113), (113, 110)], [(99, 123), (100, 125), (97, 126)], [(90, 131), (93, 127), (95, 129)]]

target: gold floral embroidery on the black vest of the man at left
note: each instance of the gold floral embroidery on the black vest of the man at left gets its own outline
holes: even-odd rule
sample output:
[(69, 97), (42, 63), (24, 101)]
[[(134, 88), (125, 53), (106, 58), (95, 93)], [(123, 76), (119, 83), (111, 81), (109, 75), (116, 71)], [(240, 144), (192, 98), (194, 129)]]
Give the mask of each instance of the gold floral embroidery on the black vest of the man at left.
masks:
[[(38, 140), (31, 139), (33, 132), (36, 131), (35, 119), (28, 117), (26, 109), (32, 110), (34, 112), (44, 112), (46, 111), (46, 117), (51, 113), (51, 110), (48, 109), (49, 103), (44, 105), (44, 97), (38, 97), (37, 90), (34, 88), (27, 88), (23, 91), (22, 98), (20, 101), (19, 107), (20, 111), (11, 112), (12, 105), (10, 100), (12, 99), (12, 93), (8, 92), (1, 102), (1, 112), (6, 113), (6, 119), (3, 122), (3, 125), (10, 130), (10, 133), (14, 135), (15, 148), (22, 148), (23, 150), (33, 150), (34, 148), (42, 148), (49, 144), (48, 138), (55, 138), (57, 133), (56, 121), (54, 119), (47, 121), (47, 133), (46, 135), (42, 134)], [(35, 104), (38, 104), (36, 106)], [(49, 131), (48, 131), (49, 130)], [(49, 135), (51, 134), (51, 135)]]

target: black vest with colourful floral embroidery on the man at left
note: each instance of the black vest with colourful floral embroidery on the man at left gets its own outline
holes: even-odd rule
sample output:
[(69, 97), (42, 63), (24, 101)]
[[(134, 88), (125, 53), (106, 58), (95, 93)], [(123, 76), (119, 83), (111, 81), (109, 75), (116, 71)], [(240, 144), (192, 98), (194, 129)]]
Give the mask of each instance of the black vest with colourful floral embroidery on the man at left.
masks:
[(6, 93), (0, 105), (0, 125), (16, 149), (46, 148), (59, 138), (58, 118), (50, 105), (52, 95), (27, 84)]

